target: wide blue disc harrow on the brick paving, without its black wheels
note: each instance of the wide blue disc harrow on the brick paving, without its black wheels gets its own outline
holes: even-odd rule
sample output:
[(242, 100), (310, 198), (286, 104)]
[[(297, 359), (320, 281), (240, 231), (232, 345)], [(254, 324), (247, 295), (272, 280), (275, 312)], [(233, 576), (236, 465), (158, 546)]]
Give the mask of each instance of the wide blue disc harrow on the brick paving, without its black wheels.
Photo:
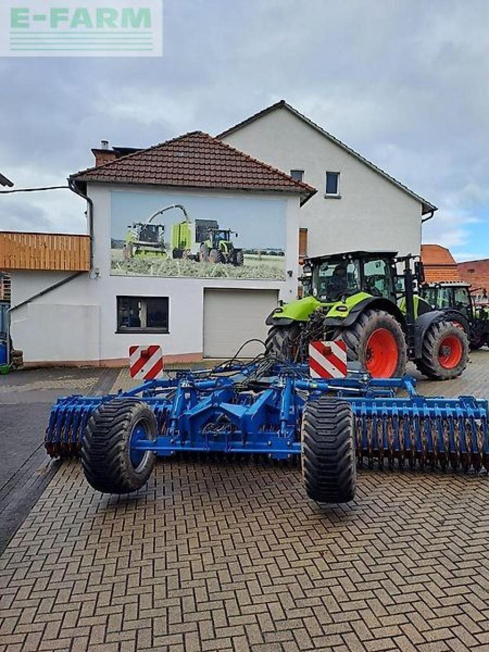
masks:
[[(134, 426), (133, 408), (122, 414), (121, 406), (143, 404), (154, 422), (146, 416), (136, 435), (131, 431), (126, 437), (133, 466), (147, 452), (265, 454), (284, 460), (303, 454), (304, 413), (316, 402), (326, 406), (323, 420), (334, 419), (345, 403), (350, 406), (357, 466), (489, 471), (486, 400), (420, 396), (408, 376), (372, 379), (358, 373), (312, 380), (303, 365), (266, 361), (176, 372), (125, 393), (60, 398), (45, 443), (53, 457), (82, 451), (82, 462), (89, 465), (100, 438), (117, 436), (117, 419), (126, 428)], [(328, 411), (328, 406), (339, 407)], [(316, 427), (314, 419), (308, 432)]]

